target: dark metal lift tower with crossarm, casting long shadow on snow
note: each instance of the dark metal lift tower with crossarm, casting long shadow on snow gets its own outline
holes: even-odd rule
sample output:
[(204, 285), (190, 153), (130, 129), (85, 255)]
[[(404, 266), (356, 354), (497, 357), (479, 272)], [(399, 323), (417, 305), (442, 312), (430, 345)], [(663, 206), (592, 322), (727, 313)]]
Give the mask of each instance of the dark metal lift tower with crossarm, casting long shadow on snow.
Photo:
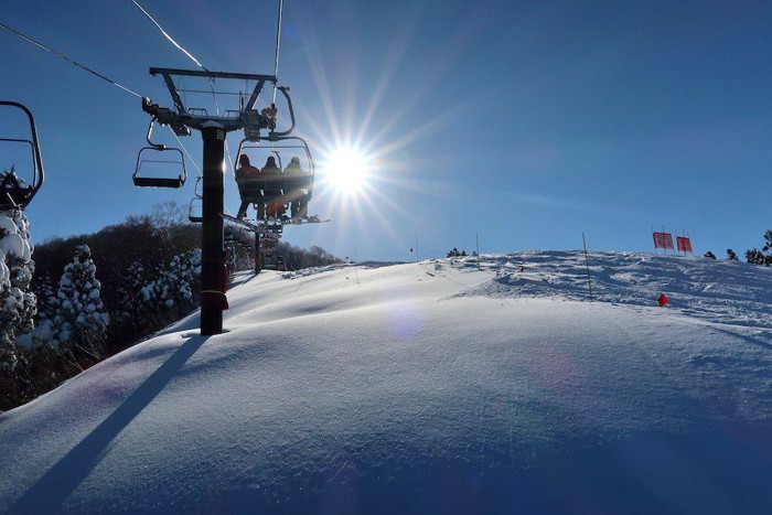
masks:
[[(253, 141), (260, 140), (260, 131), (269, 131), (268, 139), (277, 140), (288, 131), (276, 132), (276, 107), (257, 110), (257, 101), (266, 83), (271, 83), (287, 98), (294, 127), (294, 115), (287, 88), (277, 87), (276, 75), (255, 75), (242, 73), (208, 72), (197, 69), (150, 68), (150, 75), (161, 75), (174, 103), (174, 109), (160, 107), (149, 98), (142, 99), (142, 110), (152, 117), (151, 125), (158, 121), (168, 125), (178, 136), (190, 136), (191, 129), (200, 130), (203, 138), (203, 189), (202, 189), (202, 273), (201, 273), (201, 334), (212, 335), (223, 332), (223, 307), (225, 304), (225, 249), (223, 237), (223, 195), (225, 173), (225, 138), (228, 132), (244, 129), (245, 137)], [(238, 111), (225, 111), (222, 116), (206, 112), (189, 111), (180, 97), (172, 77), (204, 77), (208, 81), (235, 79), (255, 82), (249, 99)], [(230, 116), (228, 116), (230, 115)], [(161, 147), (161, 146), (156, 146)], [(157, 150), (167, 150), (157, 148)], [(172, 149), (169, 149), (172, 150)], [(174, 149), (175, 150), (175, 149)], [(141, 179), (141, 183), (138, 182)], [(171, 185), (168, 179), (135, 176), (138, 186), (179, 187)]]

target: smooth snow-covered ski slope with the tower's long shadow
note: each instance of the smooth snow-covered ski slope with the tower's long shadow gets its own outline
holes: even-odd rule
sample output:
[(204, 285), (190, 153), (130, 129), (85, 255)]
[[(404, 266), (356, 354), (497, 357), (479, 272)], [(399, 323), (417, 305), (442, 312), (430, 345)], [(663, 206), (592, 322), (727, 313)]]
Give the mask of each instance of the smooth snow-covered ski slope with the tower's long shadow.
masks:
[(770, 513), (772, 270), (590, 270), (594, 302), (576, 251), (240, 275), (225, 334), (0, 415), (0, 512)]

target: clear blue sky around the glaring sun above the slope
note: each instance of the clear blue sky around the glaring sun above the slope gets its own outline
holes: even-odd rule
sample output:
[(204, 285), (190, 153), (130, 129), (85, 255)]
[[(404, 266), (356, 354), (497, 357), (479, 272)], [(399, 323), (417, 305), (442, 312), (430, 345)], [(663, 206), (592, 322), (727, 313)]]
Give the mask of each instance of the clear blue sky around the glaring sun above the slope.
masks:
[[(140, 3), (207, 68), (272, 73), (275, 2)], [(148, 67), (195, 66), (128, 0), (12, 2), (0, 21), (163, 106)], [(665, 226), (698, 254), (760, 246), (770, 26), (768, 2), (287, 0), (279, 76), (298, 133), (318, 160), (355, 144), (374, 165), (360, 195), (320, 183), (310, 211), (333, 222), (286, 240), (412, 259), (416, 236), (426, 258), (471, 250), (475, 233), (483, 250), (515, 251), (579, 248), (583, 232), (591, 248), (651, 250)], [(49, 174), (34, 240), (187, 204), (193, 180), (131, 183), (149, 121), (136, 97), (0, 37), (0, 97), (34, 111)], [(200, 136), (183, 142), (201, 165)], [(238, 208), (232, 175), (226, 205)]]

